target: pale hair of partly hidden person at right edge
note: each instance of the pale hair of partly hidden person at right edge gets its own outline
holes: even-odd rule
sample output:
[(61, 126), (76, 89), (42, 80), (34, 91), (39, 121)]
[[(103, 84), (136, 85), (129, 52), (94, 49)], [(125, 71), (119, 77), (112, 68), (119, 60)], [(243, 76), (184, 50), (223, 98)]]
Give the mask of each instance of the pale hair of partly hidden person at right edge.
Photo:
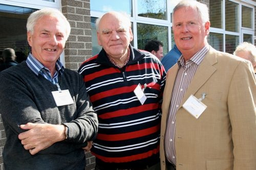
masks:
[(248, 42), (240, 43), (236, 47), (236, 50), (234, 51), (233, 54), (236, 55), (236, 53), (238, 53), (240, 51), (248, 51), (251, 55), (250, 61), (252, 62), (252, 64), (256, 63), (256, 47), (255, 47), (255, 45), (248, 43)]

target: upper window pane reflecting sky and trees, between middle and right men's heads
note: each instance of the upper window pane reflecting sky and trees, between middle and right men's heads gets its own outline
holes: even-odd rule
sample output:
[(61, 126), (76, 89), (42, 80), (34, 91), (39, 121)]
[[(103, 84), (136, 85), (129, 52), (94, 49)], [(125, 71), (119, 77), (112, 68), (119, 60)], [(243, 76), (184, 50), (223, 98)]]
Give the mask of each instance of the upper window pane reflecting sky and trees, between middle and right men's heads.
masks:
[(166, 0), (138, 0), (138, 16), (167, 20)]

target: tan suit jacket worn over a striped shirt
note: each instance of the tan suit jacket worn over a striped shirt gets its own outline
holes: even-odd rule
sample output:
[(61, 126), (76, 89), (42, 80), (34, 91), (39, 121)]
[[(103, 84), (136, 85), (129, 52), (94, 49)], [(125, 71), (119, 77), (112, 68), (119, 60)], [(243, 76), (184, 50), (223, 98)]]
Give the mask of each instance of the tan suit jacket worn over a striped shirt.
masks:
[[(256, 170), (256, 79), (252, 65), (212, 47), (198, 67), (176, 114), (177, 170)], [(161, 170), (166, 169), (164, 134), (178, 72), (167, 73), (162, 104)], [(182, 105), (192, 94), (207, 106), (196, 119)]]

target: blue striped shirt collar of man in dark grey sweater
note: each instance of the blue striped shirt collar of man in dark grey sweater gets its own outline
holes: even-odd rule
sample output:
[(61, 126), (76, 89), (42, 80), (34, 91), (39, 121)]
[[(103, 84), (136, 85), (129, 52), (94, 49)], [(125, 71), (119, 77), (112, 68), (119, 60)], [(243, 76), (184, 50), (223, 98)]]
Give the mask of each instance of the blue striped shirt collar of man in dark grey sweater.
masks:
[[(48, 68), (44, 67), (44, 65), (42, 65), (42, 63), (40, 63), (40, 61), (38, 61), (32, 55), (32, 53), (29, 53), (28, 58), (26, 59), (26, 64), (36, 75), (38, 75), (42, 69), (49, 70)], [(62, 75), (64, 72), (64, 66), (62, 65), (60, 60), (57, 60), (56, 62), (56, 70), (60, 73), (60, 75)]]

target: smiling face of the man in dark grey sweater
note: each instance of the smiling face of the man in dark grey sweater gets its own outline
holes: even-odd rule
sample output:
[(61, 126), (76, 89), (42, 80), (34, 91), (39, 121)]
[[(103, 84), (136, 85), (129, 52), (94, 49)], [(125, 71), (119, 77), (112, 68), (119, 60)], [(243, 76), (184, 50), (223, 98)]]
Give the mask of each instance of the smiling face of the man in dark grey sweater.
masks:
[(55, 67), (66, 43), (65, 22), (54, 16), (43, 16), (28, 32), (32, 55), (48, 69)]

